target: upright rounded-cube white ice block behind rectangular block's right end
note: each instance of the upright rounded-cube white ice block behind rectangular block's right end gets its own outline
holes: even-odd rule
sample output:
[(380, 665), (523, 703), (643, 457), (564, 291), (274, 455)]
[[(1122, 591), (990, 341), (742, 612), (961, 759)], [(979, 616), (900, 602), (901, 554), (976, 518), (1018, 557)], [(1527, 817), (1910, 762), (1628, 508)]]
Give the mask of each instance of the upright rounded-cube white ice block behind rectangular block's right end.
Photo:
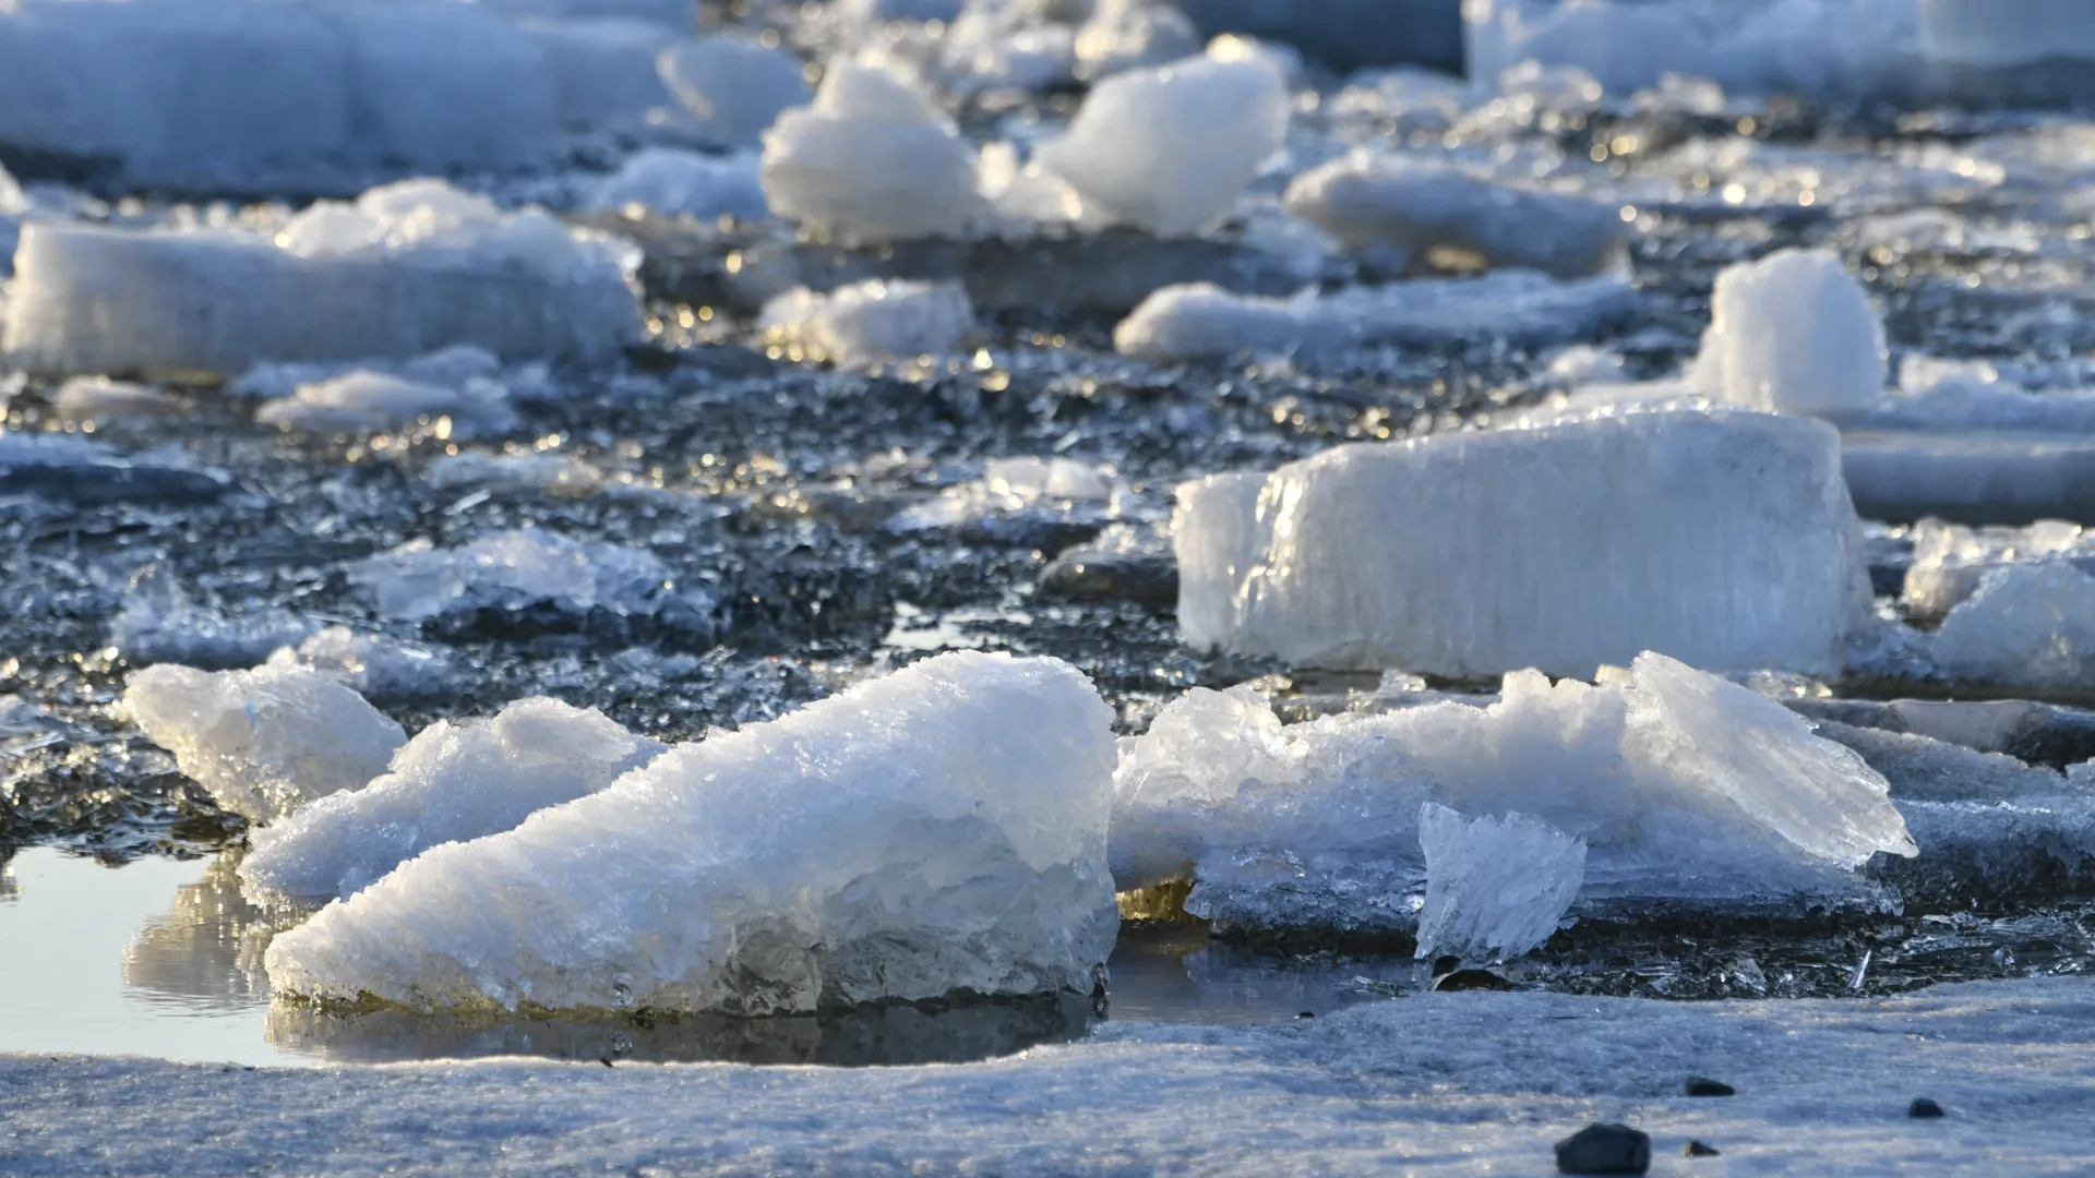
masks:
[(1779, 249), (1726, 266), (1693, 384), (1770, 413), (1839, 413), (1883, 400), (1883, 321), (1839, 256)]

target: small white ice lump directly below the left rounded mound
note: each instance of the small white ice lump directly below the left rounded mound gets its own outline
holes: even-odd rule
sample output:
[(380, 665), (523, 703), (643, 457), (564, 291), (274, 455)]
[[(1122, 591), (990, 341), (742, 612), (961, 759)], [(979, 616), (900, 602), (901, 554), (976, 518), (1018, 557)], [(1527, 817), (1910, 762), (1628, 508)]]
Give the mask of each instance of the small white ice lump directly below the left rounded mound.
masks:
[(811, 361), (859, 369), (882, 361), (947, 356), (974, 331), (974, 306), (960, 283), (869, 279), (771, 300), (758, 325)]

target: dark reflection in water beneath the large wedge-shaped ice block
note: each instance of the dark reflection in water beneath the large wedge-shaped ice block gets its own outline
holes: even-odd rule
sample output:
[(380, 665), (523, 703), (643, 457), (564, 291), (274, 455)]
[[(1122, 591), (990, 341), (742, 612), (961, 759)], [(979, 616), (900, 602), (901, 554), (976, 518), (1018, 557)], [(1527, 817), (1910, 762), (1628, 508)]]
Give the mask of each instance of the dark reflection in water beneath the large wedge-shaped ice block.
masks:
[(268, 1012), (268, 1042), (331, 1063), (534, 1054), (578, 1061), (817, 1063), (832, 1067), (970, 1063), (1083, 1035), (1091, 1000), (863, 1006), (838, 1015), (731, 1019), (507, 1019), (377, 1010), (337, 1015), (300, 1002)]

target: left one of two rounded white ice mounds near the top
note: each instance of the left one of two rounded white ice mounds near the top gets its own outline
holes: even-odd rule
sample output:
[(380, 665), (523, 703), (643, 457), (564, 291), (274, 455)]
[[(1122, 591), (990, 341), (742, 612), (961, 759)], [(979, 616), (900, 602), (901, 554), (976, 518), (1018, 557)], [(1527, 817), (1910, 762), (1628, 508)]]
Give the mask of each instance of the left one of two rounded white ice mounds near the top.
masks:
[(968, 237), (991, 216), (974, 151), (939, 107), (851, 61), (765, 132), (763, 184), (771, 212), (844, 245)]

